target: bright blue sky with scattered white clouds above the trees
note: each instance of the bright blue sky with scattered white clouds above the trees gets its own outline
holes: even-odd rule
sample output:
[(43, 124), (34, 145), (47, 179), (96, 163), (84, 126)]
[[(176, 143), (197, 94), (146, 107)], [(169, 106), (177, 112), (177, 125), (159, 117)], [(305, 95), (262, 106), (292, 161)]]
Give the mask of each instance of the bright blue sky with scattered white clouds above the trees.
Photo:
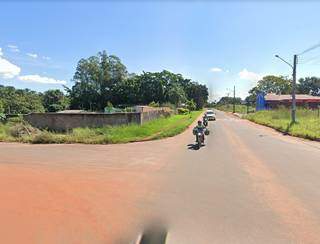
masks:
[[(1, 2), (0, 84), (72, 86), (79, 59), (106, 50), (129, 72), (167, 69), (207, 84), (212, 98), (233, 85), (245, 97), (265, 74), (291, 75), (274, 54), (292, 61), (319, 43), (319, 10), (316, 1)], [(298, 77), (320, 76), (319, 55), (299, 57)]]

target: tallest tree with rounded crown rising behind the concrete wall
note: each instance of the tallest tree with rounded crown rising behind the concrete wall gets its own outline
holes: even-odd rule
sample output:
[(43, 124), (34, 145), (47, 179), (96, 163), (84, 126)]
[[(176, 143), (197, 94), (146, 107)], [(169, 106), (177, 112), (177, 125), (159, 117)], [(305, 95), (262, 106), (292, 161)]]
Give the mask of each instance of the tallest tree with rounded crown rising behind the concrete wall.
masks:
[(103, 110), (108, 101), (113, 102), (112, 90), (128, 75), (126, 67), (116, 56), (105, 51), (97, 56), (81, 59), (73, 77), (75, 85), (67, 89), (72, 108)]

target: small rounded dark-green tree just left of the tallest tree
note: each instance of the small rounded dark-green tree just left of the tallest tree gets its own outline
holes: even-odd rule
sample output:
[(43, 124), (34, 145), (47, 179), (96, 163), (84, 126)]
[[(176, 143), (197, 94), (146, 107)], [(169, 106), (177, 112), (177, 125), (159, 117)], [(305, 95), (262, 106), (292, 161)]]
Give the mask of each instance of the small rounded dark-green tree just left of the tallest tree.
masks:
[(69, 101), (62, 91), (48, 90), (43, 94), (43, 106), (47, 112), (57, 112), (68, 107)]

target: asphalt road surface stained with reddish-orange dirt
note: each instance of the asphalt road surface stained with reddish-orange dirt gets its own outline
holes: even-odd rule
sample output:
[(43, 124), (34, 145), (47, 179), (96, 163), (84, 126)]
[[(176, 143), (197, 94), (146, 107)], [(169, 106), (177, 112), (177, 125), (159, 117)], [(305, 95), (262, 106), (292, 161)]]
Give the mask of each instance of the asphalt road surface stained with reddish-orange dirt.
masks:
[(122, 145), (0, 144), (1, 243), (320, 243), (320, 143), (222, 112)]

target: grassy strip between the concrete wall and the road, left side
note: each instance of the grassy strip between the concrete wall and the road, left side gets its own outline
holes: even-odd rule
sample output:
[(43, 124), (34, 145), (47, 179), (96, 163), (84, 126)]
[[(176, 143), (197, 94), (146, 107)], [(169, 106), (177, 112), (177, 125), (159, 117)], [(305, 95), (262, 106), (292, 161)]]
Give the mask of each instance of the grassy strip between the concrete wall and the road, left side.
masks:
[[(0, 124), (0, 141), (26, 143), (110, 144), (170, 137), (183, 132), (202, 111), (159, 118), (143, 125), (76, 128), (67, 133), (37, 130), (22, 122)], [(19, 132), (20, 131), (20, 132)]]

